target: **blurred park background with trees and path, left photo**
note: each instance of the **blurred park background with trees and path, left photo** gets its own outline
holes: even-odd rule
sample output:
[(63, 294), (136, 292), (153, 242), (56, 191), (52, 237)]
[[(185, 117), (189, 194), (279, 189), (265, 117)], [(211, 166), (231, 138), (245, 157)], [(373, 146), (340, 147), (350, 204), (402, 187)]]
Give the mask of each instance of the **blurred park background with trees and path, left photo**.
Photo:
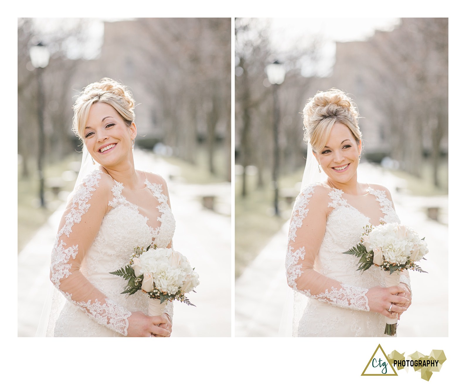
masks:
[(174, 244), (199, 271), (197, 308), (175, 304), (173, 336), (229, 336), (230, 18), (18, 19), (18, 335), (34, 336), (81, 164), (72, 106), (103, 77), (133, 93), (135, 165), (167, 180)]

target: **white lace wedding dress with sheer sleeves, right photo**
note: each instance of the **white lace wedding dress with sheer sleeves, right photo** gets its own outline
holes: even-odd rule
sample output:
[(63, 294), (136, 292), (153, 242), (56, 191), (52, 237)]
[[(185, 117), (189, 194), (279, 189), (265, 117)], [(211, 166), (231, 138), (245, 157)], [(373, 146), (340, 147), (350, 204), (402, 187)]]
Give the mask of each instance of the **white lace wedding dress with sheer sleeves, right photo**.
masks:
[[(293, 336), (384, 335), (385, 318), (369, 312), (365, 296), (369, 288), (384, 286), (382, 272), (374, 266), (357, 271), (358, 259), (343, 254), (365, 225), (399, 223), (384, 187), (368, 186), (366, 192), (353, 196), (315, 183), (296, 198), (286, 257), (288, 285), (295, 290)], [(407, 272), (401, 281), (409, 285)]]

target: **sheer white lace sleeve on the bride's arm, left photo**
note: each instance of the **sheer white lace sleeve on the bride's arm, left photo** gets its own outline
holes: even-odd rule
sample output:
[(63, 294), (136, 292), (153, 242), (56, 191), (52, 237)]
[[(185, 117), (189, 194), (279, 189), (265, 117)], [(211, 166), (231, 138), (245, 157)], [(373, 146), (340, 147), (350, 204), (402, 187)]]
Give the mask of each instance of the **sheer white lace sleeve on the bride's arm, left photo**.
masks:
[(81, 271), (81, 264), (108, 208), (111, 187), (96, 170), (74, 192), (62, 216), (52, 250), (50, 280), (63, 295), (99, 324), (127, 335), (131, 315), (105, 297)]

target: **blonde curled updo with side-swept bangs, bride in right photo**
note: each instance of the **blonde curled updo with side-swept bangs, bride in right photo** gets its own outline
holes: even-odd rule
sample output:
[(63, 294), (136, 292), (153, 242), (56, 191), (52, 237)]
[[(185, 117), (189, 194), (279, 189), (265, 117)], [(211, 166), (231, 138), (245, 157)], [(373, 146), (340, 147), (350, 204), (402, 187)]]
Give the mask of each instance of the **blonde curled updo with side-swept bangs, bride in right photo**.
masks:
[(314, 152), (322, 150), (329, 141), (330, 130), (336, 122), (343, 123), (353, 133), (356, 143), (362, 134), (358, 127), (356, 104), (349, 96), (336, 88), (317, 92), (308, 100), (302, 111), (304, 141), (309, 142)]

